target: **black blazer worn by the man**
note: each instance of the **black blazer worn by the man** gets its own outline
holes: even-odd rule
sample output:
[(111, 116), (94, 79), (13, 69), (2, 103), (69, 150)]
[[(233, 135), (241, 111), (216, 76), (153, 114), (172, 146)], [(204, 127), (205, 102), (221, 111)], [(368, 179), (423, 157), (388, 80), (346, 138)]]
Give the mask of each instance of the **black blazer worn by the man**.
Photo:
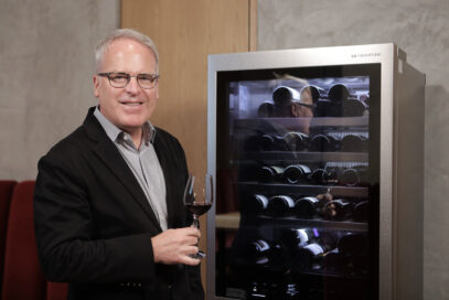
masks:
[[(39, 162), (34, 225), (45, 277), (70, 282), (68, 299), (204, 299), (200, 268), (154, 264), (161, 227), (143, 191), (93, 115)], [(188, 226), (188, 178), (178, 140), (157, 128), (169, 228)]]

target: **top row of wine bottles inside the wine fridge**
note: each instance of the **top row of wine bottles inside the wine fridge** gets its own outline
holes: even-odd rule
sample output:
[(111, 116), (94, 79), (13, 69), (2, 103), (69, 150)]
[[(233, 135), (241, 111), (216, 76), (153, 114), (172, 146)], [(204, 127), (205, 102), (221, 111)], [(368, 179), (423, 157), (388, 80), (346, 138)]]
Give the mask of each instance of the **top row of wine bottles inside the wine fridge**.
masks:
[[(311, 98), (311, 101), (309, 100)], [(316, 117), (359, 117), (367, 114), (368, 98), (359, 99), (344, 84), (335, 84), (325, 94), (318, 86), (306, 86), (301, 92), (279, 86), (272, 93), (272, 100), (263, 103), (258, 108), (259, 117), (287, 117), (282, 107), (292, 103), (311, 105)]]

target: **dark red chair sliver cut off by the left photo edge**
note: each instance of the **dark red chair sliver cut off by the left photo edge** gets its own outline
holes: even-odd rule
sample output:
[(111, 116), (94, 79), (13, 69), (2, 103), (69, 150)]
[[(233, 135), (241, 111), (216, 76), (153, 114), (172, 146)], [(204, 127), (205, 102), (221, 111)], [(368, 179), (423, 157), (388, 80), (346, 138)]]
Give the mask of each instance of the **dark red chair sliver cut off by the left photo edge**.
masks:
[[(0, 180), (0, 282), (3, 281), (3, 258), (4, 258), (4, 243), (7, 240), (7, 225), (9, 206), (11, 203), (11, 195), (17, 181)], [(1, 285), (0, 285), (1, 296)], [(1, 298), (0, 298), (1, 299)]]

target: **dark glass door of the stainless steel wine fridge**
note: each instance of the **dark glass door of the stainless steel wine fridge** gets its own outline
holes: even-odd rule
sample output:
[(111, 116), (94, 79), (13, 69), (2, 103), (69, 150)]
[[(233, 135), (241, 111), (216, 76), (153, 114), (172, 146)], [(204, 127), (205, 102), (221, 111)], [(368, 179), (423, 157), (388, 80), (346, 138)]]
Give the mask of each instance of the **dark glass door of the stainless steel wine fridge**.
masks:
[(379, 72), (217, 73), (218, 298), (376, 299)]

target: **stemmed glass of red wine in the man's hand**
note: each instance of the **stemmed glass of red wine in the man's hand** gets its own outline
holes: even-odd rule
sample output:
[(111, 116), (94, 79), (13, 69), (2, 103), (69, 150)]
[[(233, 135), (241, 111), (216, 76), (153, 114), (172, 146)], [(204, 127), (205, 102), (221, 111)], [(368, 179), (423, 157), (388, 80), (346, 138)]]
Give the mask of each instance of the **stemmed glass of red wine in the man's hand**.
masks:
[[(205, 214), (212, 207), (214, 197), (214, 182), (211, 174), (205, 174), (204, 186), (201, 186), (201, 182), (195, 182), (195, 180), (196, 178), (193, 174), (189, 174), (183, 200), (185, 207), (193, 215), (191, 227), (200, 228), (199, 217)], [(205, 256), (205, 253), (202, 250), (191, 255), (191, 257), (197, 259), (202, 259)]]

